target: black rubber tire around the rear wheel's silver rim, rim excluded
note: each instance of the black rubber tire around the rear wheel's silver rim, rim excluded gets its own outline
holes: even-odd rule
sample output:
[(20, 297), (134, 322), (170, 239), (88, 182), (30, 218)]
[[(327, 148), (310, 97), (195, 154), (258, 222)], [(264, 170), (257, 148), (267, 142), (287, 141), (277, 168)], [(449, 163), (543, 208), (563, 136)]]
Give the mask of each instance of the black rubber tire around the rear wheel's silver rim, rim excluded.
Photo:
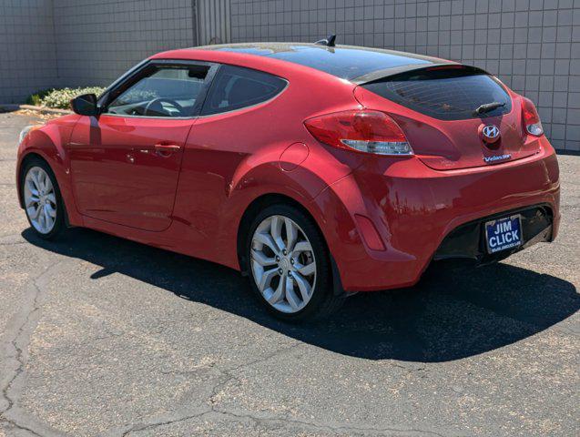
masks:
[[(268, 219), (271, 216), (284, 216), (292, 219), (300, 227), (306, 238), (310, 241), (310, 245), (314, 252), (317, 269), (313, 288), (314, 291), (312, 292), (312, 296), (306, 306), (297, 312), (282, 312), (270, 305), (270, 303), (262, 296), (262, 293), (259, 291), (258, 285), (256, 284), (256, 280), (254, 279), (252, 272), (250, 251), (252, 248), (254, 232), (264, 219)], [(334, 292), (332, 282), (331, 257), (326, 242), (321, 235), (321, 231), (318, 229), (316, 223), (308, 215), (304, 214), (299, 208), (295, 208), (287, 204), (276, 204), (262, 209), (259, 214), (252, 220), (249, 226), (247, 238), (245, 241), (244, 255), (244, 269), (248, 272), (251, 289), (256, 293), (259, 301), (263, 304), (263, 306), (280, 320), (321, 320), (331, 315), (331, 313), (334, 311), (339, 310), (343, 301), (345, 300), (345, 294), (343, 292), (338, 294)]]

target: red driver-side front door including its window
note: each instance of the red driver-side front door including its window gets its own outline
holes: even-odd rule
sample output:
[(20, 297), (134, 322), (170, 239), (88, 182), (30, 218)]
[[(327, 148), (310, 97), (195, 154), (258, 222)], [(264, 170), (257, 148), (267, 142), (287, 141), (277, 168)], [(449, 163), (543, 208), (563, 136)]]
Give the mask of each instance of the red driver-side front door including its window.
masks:
[(151, 62), (81, 117), (69, 142), (76, 208), (137, 229), (171, 223), (184, 143), (209, 87), (207, 63)]

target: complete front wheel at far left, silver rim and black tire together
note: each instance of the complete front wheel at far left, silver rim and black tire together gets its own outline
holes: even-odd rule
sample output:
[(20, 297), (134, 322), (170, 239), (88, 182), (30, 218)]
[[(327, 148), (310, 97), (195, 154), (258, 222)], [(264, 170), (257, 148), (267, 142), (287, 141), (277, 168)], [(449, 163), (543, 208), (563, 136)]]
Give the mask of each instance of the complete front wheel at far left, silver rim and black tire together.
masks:
[(41, 239), (56, 239), (66, 229), (65, 208), (55, 173), (44, 159), (26, 160), (20, 190), (26, 219)]

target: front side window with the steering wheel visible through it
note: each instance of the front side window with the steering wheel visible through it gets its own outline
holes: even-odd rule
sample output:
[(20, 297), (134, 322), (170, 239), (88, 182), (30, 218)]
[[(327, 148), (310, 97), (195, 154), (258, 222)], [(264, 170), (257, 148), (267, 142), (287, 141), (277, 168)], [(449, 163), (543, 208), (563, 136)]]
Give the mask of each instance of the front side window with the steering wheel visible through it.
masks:
[(143, 117), (191, 117), (209, 66), (149, 66), (105, 113)]

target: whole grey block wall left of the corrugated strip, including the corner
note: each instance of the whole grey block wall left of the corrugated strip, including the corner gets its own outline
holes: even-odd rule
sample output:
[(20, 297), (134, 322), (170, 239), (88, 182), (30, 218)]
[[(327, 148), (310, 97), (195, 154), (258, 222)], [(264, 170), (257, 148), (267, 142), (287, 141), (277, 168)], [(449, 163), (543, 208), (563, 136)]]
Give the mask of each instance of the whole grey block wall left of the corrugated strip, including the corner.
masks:
[(195, 0), (0, 0), (0, 103), (57, 86), (107, 86), (196, 45)]

